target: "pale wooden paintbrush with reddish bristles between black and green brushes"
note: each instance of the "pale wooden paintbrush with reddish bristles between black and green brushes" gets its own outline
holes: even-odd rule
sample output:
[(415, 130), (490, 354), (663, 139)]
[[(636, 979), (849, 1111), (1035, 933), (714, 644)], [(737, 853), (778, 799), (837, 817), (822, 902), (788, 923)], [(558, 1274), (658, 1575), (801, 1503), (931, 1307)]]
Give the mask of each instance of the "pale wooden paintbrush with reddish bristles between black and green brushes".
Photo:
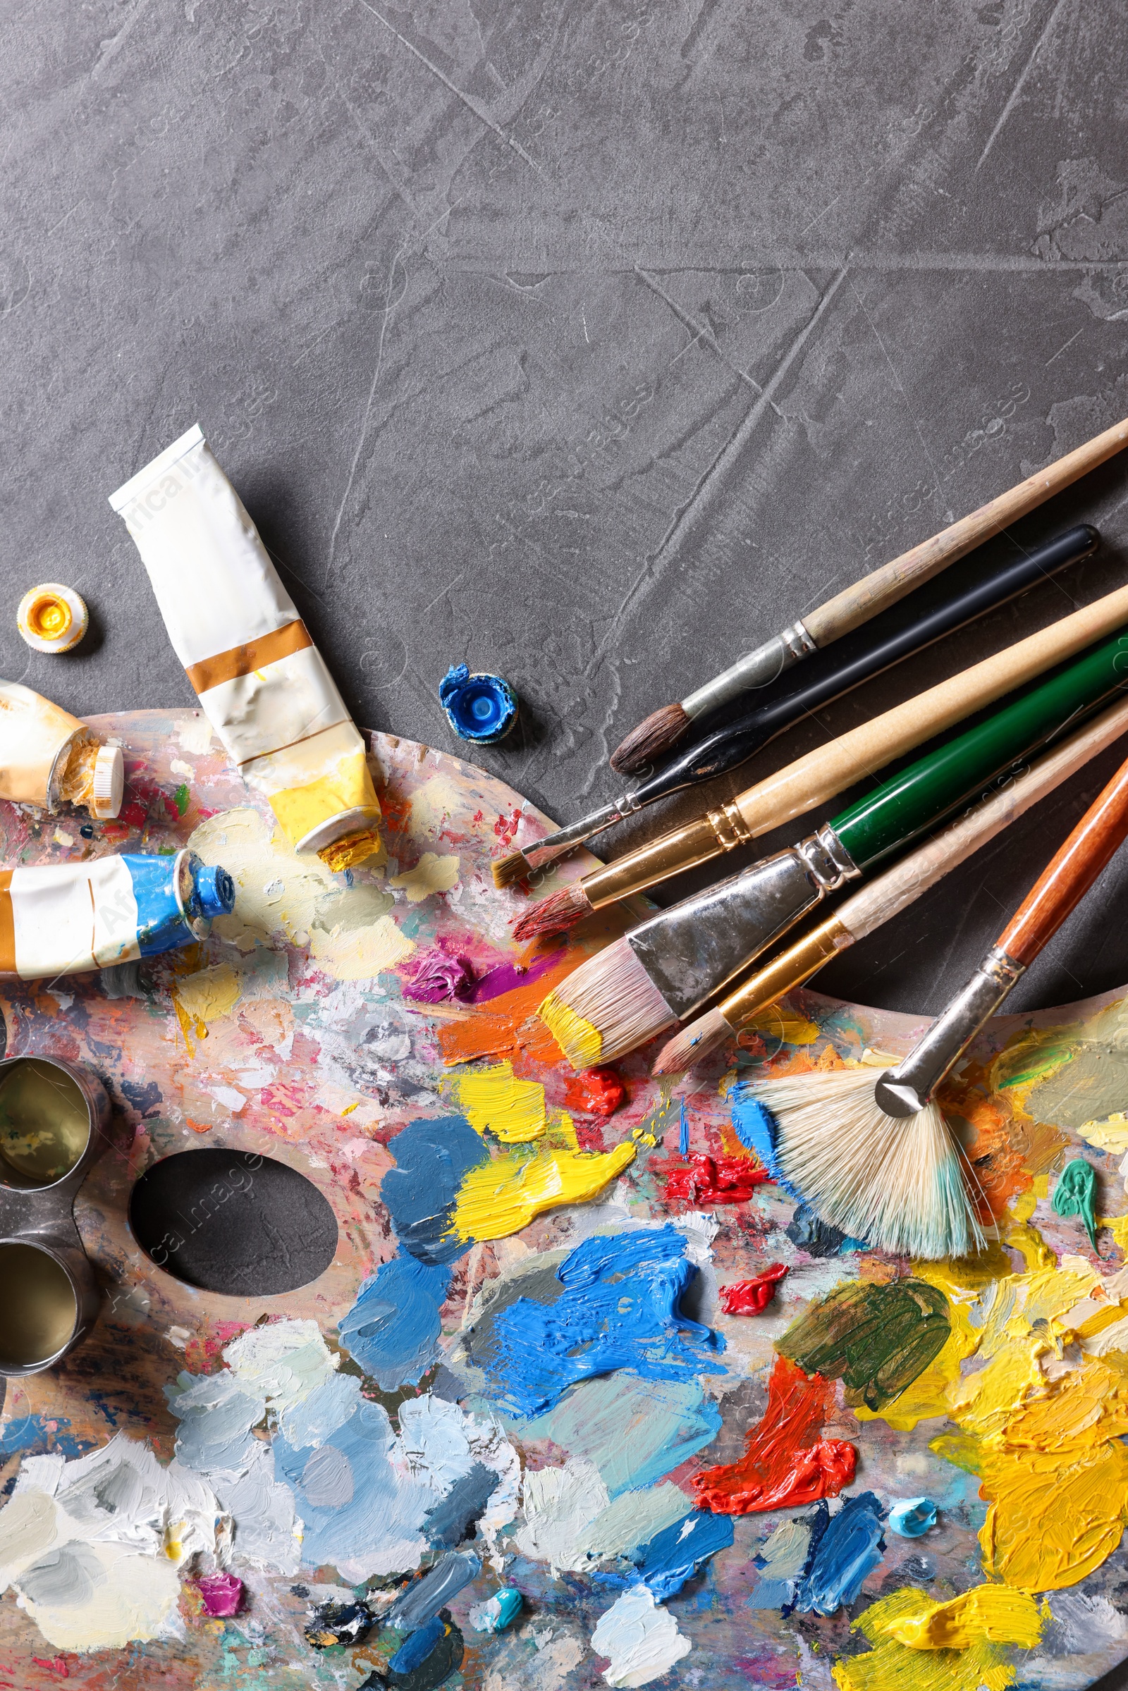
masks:
[(994, 703), (1054, 665), (1072, 658), (1091, 641), (1120, 627), (1128, 617), (1128, 587), (1074, 610), (1038, 634), (1030, 634), (1006, 651), (984, 658), (917, 698), (883, 712), (829, 746), (797, 758), (756, 786), (746, 788), (719, 810), (658, 835), (646, 846), (592, 869), (582, 879), (531, 906), (516, 923), (514, 935), (529, 940), (541, 933), (563, 933), (594, 910), (641, 893), (658, 881), (719, 857), (734, 846), (769, 834), (781, 824), (817, 808), (854, 781), (884, 768), (895, 758), (942, 734), (964, 717)]

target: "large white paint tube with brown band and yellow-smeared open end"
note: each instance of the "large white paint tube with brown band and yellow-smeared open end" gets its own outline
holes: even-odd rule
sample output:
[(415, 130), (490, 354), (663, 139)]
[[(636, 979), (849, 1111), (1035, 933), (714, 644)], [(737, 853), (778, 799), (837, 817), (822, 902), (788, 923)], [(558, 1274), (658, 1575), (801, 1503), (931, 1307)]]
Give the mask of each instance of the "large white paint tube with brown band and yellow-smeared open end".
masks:
[(200, 428), (110, 504), (211, 727), (294, 851), (330, 869), (369, 857), (381, 807), (364, 741)]

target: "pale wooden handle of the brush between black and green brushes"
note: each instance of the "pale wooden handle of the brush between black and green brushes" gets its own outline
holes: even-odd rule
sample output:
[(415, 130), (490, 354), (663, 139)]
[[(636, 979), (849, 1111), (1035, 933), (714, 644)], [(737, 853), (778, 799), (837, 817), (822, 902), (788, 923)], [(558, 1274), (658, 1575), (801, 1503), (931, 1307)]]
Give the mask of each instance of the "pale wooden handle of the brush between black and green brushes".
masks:
[[(768, 834), (781, 822), (805, 815), (835, 793), (842, 793), (861, 776), (874, 774), (895, 758), (903, 758), (974, 710), (994, 703), (1003, 693), (1076, 656), (1125, 622), (1128, 622), (1128, 587), (1120, 587), (1096, 604), (1052, 622), (1049, 629), (1040, 629), (1038, 634), (1030, 634), (1006, 651), (984, 658), (949, 681), (930, 687), (917, 698), (906, 698), (903, 705), (862, 722), (829, 746), (808, 751), (776, 774), (737, 793), (732, 807), (753, 837)], [(673, 874), (673, 869), (668, 873)]]

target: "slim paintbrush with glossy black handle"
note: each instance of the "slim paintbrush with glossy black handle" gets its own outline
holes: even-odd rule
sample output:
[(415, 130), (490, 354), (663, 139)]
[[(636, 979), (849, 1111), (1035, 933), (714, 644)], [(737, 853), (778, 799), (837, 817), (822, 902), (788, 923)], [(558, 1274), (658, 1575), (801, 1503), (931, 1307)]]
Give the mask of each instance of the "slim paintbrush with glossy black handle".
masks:
[(934, 641), (964, 627), (994, 605), (1005, 604), (1035, 582), (1062, 570), (1067, 563), (1087, 558), (1099, 539), (1094, 528), (1072, 528), (1047, 546), (1038, 546), (1033, 553), (1011, 558), (1005, 565), (984, 572), (974, 585), (952, 594), (944, 604), (915, 617), (898, 632), (869, 641), (861, 651), (835, 648), (830, 653), (819, 653), (786, 693), (766, 700), (754, 710), (744, 712), (736, 722), (729, 722), (715, 734), (698, 741), (658, 774), (636, 786), (634, 791), (602, 805), (580, 822), (556, 829), (555, 834), (545, 835), (533, 846), (499, 857), (490, 864), (494, 886), (509, 886), (512, 881), (524, 879), (534, 869), (543, 869), (556, 857), (573, 851), (592, 834), (600, 834), (616, 822), (622, 822), (624, 817), (653, 805), (658, 798), (668, 798), (687, 786), (697, 786), (702, 781), (712, 781), (717, 774), (737, 769), (761, 746), (773, 741), (776, 734), (783, 734), (791, 722), (798, 722), (832, 698), (861, 687), (862, 681), (900, 663), (910, 653), (923, 651), (925, 646), (932, 646)]

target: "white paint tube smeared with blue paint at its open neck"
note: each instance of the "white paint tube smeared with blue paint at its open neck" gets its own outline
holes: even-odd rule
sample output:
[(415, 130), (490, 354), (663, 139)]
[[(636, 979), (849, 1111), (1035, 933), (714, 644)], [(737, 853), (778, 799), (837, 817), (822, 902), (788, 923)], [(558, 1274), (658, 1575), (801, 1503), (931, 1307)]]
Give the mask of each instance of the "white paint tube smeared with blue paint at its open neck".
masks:
[(233, 906), (227, 869), (191, 851), (0, 869), (0, 974), (42, 981), (156, 957), (205, 939)]

